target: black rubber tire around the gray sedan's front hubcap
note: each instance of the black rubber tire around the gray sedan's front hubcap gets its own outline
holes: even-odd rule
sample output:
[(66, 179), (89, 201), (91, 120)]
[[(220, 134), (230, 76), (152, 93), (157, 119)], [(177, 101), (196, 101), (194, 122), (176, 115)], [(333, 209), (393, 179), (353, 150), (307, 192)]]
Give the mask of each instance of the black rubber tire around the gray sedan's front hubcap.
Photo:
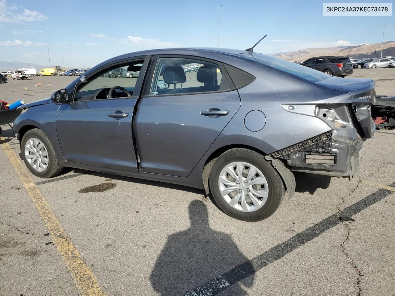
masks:
[[(35, 169), (33, 169), (33, 167), (26, 160), (25, 144), (30, 138), (39, 139), (44, 144), (48, 152), (48, 166), (42, 172), (38, 172)], [(53, 176), (60, 174), (60, 172), (62, 172), (63, 170), (63, 167), (59, 165), (58, 157), (55, 153), (55, 149), (53, 148), (51, 141), (49, 141), (47, 135), (45, 135), (45, 133), (41, 131), (41, 129), (30, 129), (23, 135), (21, 141), (21, 155), (26, 167), (30, 170), (30, 172), (32, 172), (32, 174), (40, 178), (51, 178)]]

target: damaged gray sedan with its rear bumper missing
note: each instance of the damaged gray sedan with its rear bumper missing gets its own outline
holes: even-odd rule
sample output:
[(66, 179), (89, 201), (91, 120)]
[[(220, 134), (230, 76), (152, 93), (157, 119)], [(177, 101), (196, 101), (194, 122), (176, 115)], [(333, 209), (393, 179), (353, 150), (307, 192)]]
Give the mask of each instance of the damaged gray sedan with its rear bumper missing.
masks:
[[(137, 79), (103, 77), (120, 67)], [(74, 167), (201, 188), (231, 217), (259, 221), (292, 197), (293, 171), (354, 176), (374, 87), (252, 51), (140, 51), (23, 105), (13, 128), (36, 176)]]

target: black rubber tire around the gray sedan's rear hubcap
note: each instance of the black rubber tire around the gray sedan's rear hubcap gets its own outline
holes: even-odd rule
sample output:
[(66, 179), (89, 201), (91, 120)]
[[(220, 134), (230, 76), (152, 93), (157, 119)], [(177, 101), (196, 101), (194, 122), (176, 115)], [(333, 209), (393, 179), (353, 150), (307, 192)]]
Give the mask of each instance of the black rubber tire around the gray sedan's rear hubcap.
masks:
[[(265, 204), (253, 212), (242, 212), (233, 208), (221, 195), (218, 186), (220, 172), (226, 165), (236, 161), (245, 161), (254, 165), (266, 178), (269, 195)], [(248, 222), (260, 221), (270, 217), (280, 206), (285, 193), (282, 179), (273, 166), (261, 154), (245, 148), (233, 148), (216, 159), (210, 172), (209, 186), (216, 204), (224, 213), (235, 219)]]

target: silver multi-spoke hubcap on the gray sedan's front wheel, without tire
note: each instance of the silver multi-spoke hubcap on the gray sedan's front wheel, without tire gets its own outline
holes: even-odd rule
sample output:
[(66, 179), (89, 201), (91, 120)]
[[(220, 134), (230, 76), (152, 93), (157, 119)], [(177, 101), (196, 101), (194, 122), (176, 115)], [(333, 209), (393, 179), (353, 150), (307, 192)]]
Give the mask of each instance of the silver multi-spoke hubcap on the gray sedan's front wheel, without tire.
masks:
[(49, 163), (47, 148), (39, 139), (30, 138), (27, 140), (24, 155), (27, 162), (36, 171), (43, 172), (47, 169)]

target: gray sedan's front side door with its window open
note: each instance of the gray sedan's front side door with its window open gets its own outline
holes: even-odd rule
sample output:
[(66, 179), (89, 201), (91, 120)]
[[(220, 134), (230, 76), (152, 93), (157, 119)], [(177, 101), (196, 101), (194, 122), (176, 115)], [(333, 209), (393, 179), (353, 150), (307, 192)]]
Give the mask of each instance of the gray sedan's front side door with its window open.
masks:
[[(128, 65), (141, 67), (142, 63), (137, 60)], [(80, 83), (71, 103), (60, 105), (56, 117), (60, 147), (71, 163), (109, 172), (136, 172), (132, 118), (140, 88), (134, 86), (141, 85), (143, 75), (110, 78), (103, 71)]]

